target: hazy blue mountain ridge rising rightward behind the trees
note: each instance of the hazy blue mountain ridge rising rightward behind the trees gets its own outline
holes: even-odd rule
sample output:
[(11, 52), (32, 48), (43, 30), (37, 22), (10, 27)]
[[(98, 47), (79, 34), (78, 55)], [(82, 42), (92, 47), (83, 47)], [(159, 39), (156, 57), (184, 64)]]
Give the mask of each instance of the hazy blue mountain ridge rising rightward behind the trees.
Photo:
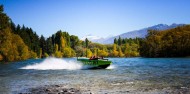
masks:
[(118, 36), (110, 37), (110, 38), (107, 38), (107, 39), (102, 39), (98, 43), (112, 44), (114, 42), (114, 39), (119, 38), (119, 36), (121, 38), (136, 38), (136, 37), (144, 38), (147, 35), (147, 30), (167, 30), (167, 29), (172, 29), (172, 28), (175, 28), (175, 27), (178, 27), (178, 26), (183, 26), (183, 25), (185, 25), (185, 24), (175, 24), (175, 23), (171, 24), (171, 25), (158, 24), (158, 25), (154, 25), (154, 26), (151, 26), (151, 27), (126, 32), (126, 33), (120, 34)]

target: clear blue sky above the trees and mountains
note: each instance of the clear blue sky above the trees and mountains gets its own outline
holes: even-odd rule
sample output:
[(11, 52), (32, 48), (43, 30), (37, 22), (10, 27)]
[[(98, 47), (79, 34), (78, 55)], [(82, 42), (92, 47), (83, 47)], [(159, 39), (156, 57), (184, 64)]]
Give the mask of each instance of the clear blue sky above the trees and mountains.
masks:
[(15, 24), (39, 36), (115, 36), (157, 24), (189, 24), (190, 0), (0, 0)]

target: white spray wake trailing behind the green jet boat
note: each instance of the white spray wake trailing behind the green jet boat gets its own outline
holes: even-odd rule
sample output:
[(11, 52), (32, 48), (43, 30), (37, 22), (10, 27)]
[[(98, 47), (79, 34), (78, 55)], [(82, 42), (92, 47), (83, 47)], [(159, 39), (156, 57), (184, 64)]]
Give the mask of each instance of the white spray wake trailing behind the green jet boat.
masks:
[(21, 69), (34, 69), (34, 70), (78, 70), (82, 69), (83, 65), (74, 60), (63, 60), (60, 58), (46, 58), (44, 61), (40, 63), (36, 63), (33, 65), (27, 65), (22, 67)]

